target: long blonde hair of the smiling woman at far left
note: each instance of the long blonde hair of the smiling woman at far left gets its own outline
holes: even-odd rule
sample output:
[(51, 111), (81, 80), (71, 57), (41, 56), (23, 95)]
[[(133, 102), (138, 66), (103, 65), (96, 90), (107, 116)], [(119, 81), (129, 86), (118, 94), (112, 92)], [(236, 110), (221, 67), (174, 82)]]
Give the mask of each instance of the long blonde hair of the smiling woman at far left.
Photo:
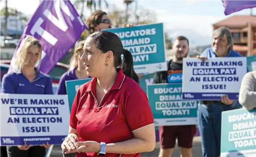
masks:
[[(41, 55), (42, 55), (42, 46), (39, 42), (38, 39), (36, 39), (35, 37), (33, 36), (29, 36), (27, 35), (23, 40), (22, 40), (22, 43), (20, 45), (20, 47), (18, 48), (17, 50), (17, 55), (16, 55), (16, 58), (15, 58), (15, 64), (14, 64), (14, 67), (18, 70), (22, 70), (23, 68), (23, 65), (25, 63), (25, 57), (28, 53), (28, 48), (29, 46), (37, 46), (38, 49), (39, 49), (39, 61), (41, 60)], [(41, 61), (40, 61), (41, 62)], [(40, 63), (38, 64), (38, 66), (40, 66)]]

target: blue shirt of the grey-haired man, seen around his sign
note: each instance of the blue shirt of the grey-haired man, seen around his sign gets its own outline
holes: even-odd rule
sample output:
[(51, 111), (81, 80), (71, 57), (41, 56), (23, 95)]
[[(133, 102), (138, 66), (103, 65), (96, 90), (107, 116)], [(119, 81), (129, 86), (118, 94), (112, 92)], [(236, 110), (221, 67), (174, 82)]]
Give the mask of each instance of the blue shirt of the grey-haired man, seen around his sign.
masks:
[[(212, 48), (207, 48), (206, 50), (204, 50), (204, 52), (200, 55), (201, 57), (207, 57), (207, 58), (216, 58), (218, 57), (215, 52), (213, 51)], [(243, 57), (241, 54), (239, 54), (238, 52), (230, 49), (227, 56), (225, 57)], [(247, 71), (248, 68), (247, 68)], [(224, 111), (227, 110), (232, 110), (232, 109), (236, 109), (236, 108), (242, 108), (242, 105), (238, 102), (238, 101), (234, 101), (234, 103), (232, 105), (224, 105)]]

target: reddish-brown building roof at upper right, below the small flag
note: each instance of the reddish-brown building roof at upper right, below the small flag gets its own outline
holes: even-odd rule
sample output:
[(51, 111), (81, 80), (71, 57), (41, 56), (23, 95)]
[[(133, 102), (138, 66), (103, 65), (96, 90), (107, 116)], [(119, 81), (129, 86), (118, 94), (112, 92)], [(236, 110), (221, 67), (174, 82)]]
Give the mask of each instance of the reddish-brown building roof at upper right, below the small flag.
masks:
[(256, 16), (255, 15), (234, 15), (230, 18), (226, 18), (225, 20), (216, 22), (213, 24), (215, 27), (245, 27), (248, 22), (251, 24), (256, 24)]

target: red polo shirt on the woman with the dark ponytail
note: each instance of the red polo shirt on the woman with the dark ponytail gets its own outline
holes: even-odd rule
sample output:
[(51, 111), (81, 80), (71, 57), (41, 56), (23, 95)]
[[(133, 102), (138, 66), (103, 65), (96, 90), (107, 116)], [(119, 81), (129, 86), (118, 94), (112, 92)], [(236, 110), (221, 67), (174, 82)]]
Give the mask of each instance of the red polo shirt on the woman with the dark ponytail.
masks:
[[(133, 131), (154, 124), (148, 97), (141, 87), (119, 70), (112, 88), (97, 107), (97, 78), (81, 86), (76, 93), (70, 126), (78, 133), (79, 141), (117, 143), (133, 139)], [(97, 153), (78, 153), (77, 157), (92, 157)], [(107, 157), (140, 157), (137, 154), (112, 154)]]

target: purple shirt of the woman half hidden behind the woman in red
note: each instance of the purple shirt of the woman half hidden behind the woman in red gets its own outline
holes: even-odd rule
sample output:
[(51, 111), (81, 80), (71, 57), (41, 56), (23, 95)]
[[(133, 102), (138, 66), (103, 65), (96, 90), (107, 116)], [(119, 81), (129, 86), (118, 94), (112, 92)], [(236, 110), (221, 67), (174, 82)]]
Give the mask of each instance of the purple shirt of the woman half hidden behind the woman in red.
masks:
[(73, 68), (70, 71), (65, 72), (61, 76), (61, 79), (60, 79), (59, 86), (57, 88), (56, 94), (63, 94), (63, 95), (67, 94), (65, 81), (78, 79), (76, 77), (76, 73), (75, 73), (76, 69), (77, 69), (77, 67)]

